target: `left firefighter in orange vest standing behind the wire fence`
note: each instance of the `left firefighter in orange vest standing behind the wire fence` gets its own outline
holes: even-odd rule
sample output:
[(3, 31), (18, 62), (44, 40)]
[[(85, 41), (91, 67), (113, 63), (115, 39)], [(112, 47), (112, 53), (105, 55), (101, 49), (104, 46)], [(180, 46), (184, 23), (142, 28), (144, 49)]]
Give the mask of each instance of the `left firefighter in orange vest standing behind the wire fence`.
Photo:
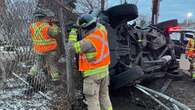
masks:
[[(31, 68), (27, 81), (34, 87), (44, 86), (47, 81), (44, 68), (47, 67), (51, 80), (59, 80), (59, 68), (57, 65), (59, 55), (57, 53), (60, 29), (54, 23), (54, 13), (49, 9), (38, 9), (34, 13), (36, 21), (30, 24), (33, 49), (36, 54), (35, 65)], [(41, 87), (39, 87), (41, 88)]]

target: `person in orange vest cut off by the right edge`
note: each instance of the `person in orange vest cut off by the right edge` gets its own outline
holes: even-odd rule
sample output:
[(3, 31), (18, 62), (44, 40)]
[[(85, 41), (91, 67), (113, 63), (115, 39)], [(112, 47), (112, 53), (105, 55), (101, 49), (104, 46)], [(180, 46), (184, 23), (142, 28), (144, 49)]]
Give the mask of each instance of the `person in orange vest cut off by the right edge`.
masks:
[(186, 46), (186, 55), (191, 60), (191, 77), (192, 80), (195, 81), (195, 39), (193, 38), (193, 36), (189, 39)]

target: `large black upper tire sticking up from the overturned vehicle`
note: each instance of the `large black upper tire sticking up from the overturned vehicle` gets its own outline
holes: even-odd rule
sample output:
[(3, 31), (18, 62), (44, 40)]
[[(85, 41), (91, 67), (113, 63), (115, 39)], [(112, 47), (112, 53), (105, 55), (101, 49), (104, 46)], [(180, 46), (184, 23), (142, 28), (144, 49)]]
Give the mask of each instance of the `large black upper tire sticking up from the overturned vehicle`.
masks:
[(121, 21), (131, 21), (138, 17), (138, 9), (134, 4), (122, 4), (109, 8), (104, 12), (112, 27), (116, 27)]

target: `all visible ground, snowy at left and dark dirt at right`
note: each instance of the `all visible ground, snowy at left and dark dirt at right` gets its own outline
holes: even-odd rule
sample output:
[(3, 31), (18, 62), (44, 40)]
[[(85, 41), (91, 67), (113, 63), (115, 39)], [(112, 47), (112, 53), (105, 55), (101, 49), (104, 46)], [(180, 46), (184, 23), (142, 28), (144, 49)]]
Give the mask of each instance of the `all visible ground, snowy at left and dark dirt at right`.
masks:
[[(152, 84), (149, 84), (150, 88), (160, 90), (163, 87), (164, 82), (167, 79), (160, 79), (153, 81)], [(55, 91), (49, 90), (46, 94), (53, 98), (53, 101), (48, 101), (43, 98), (40, 94), (35, 94), (32, 98), (24, 97), (22, 91), (25, 90), (26, 86), (22, 84), (19, 80), (9, 79), (7, 80), (7, 84), (9, 87), (0, 90), (0, 109), (12, 110), (12, 109), (57, 109), (57, 110), (69, 110), (70, 103), (66, 99), (66, 94), (63, 87), (56, 86)], [(185, 76), (181, 80), (172, 81), (168, 86), (168, 89), (165, 91), (165, 94), (172, 96), (173, 98), (181, 101), (182, 103), (188, 105), (192, 110), (195, 110), (195, 83), (190, 80), (189, 77)], [(133, 88), (131, 88), (133, 89)], [(130, 91), (131, 91), (130, 89)], [(127, 91), (127, 90), (125, 90)], [(151, 100), (147, 100), (147, 98), (142, 98), (139, 95), (138, 91), (132, 90), (136, 92), (134, 95), (138, 98), (136, 100), (143, 101), (145, 100), (146, 105), (148, 103), (153, 103)], [(80, 91), (77, 91), (77, 96), (80, 96)], [(155, 110), (155, 109), (146, 109), (144, 108), (144, 104), (135, 103), (132, 100), (132, 94), (129, 92), (118, 91), (116, 95), (112, 94), (112, 103), (114, 110)], [(134, 100), (135, 100), (134, 99)], [(147, 102), (148, 101), (148, 102)], [(152, 104), (151, 104), (152, 105)], [(77, 106), (77, 107), (76, 107)], [(75, 105), (74, 110), (83, 110), (81, 105), (77, 103)], [(161, 110), (161, 109), (158, 109)], [(163, 110), (163, 109), (162, 109)]]

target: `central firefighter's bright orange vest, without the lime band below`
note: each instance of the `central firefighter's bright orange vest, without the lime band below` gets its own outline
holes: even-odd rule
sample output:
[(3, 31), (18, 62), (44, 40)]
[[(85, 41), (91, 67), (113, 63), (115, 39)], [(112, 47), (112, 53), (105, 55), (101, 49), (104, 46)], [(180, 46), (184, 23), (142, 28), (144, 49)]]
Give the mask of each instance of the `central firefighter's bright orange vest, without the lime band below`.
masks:
[(110, 64), (110, 52), (108, 46), (107, 32), (96, 28), (96, 30), (85, 36), (85, 40), (91, 42), (96, 49), (94, 61), (88, 61), (85, 53), (79, 54), (79, 70), (86, 71)]

